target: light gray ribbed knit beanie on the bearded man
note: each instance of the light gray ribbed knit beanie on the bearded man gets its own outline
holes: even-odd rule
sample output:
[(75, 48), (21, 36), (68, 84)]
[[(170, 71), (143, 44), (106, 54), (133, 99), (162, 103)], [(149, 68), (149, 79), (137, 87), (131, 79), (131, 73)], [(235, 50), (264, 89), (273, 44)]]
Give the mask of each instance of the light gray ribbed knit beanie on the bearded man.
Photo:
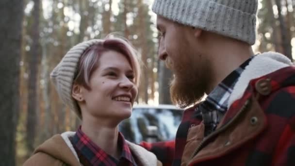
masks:
[(152, 10), (180, 24), (253, 45), (257, 5), (257, 0), (154, 0)]

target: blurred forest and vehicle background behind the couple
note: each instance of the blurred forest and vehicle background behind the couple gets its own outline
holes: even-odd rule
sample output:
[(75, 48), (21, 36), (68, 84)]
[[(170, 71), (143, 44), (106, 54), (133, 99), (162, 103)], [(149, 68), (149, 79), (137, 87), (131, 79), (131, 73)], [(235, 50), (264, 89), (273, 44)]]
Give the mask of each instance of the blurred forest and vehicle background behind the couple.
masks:
[[(168, 83), (172, 75), (157, 58), (152, 1), (0, 0), (0, 166), (20, 166), (53, 134), (77, 129), (79, 120), (58, 98), (49, 73), (72, 46), (113, 32), (128, 38), (141, 53), (137, 104), (154, 110), (134, 114), (135, 118), (152, 115), (146, 116), (152, 122), (136, 121), (138, 129), (127, 132), (127, 137), (138, 142), (140, 137), (134, 135), (141, 132), (140, 126), (149, 126), (147, 131), (157, 126), (162, 133), (169, 131), (160, 140), (173, 138), (181, 112), (165, 113), (167, 107), (158, 105), (171, 104)], [(278, 51), (293, 61), (294, 10), (295, 0), (259, 0), (256, 52)], [(168, 114), (171, 118), (163, 118)], [(173, 125), (163, 127), (159, 121), (173, 121)], [(132, 128), (134, 123), (129, 119), (122, 128)]]

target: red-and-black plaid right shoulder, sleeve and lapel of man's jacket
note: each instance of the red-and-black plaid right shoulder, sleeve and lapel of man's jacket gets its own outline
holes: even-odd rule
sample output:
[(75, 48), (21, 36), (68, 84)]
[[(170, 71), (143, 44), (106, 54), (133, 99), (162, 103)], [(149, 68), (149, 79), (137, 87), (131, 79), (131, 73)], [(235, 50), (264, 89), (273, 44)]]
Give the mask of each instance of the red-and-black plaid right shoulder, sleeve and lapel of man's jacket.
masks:
[(243, 97), (233, 102), (224, 118), (227, 124), (246, 100), (258, 93), (255, 84), (270, 79), (271, 94), (261, 95), (264, 130), (222, 156), (190, 166), (295, 166), (295, 67), (285, 67), (250, 81)]

